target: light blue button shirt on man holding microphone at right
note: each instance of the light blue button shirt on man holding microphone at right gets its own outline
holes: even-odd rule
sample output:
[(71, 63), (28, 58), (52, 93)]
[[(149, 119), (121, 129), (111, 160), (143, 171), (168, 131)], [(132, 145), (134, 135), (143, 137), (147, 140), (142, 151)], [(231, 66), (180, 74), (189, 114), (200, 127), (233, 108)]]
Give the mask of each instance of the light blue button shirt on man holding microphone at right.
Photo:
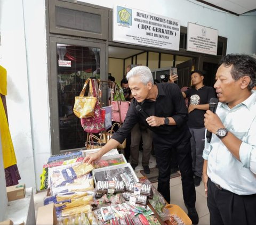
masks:
[(256, 92), (244, 102), (229, 109), (218, 104), (219, 118), (229, 132), (242, 140), (240, 161), (222, 141), (212, 134), (210, 143), (205, 138), (203, 158), (208, 161), (207, 175), (215, 184), (238, 195), (256, 193)]

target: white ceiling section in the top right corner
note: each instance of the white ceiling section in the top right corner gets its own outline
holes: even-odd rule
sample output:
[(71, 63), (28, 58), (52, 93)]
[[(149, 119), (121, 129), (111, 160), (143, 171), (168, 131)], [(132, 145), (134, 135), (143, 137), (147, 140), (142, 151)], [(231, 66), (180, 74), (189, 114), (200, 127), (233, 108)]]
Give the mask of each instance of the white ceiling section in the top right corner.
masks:
[(256, 0), (204, 0), (202, 2), (211, 3), (238, 15), (256, 9)]

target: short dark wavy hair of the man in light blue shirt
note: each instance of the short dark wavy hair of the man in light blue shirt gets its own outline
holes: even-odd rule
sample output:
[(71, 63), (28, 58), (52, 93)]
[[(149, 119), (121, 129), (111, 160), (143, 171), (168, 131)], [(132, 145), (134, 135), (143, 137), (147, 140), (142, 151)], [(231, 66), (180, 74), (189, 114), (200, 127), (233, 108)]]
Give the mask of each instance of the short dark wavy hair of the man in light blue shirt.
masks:
[(219, 65), (229, 67), (231, 65), (231, 76), (234, 80), (239, 80), (241, 77), (248, 76), (251, 78), (248, 89), (251, 90), (256, 86), (256, 59), (253, 56), (245, 54), (228, 54), (223, 56)]

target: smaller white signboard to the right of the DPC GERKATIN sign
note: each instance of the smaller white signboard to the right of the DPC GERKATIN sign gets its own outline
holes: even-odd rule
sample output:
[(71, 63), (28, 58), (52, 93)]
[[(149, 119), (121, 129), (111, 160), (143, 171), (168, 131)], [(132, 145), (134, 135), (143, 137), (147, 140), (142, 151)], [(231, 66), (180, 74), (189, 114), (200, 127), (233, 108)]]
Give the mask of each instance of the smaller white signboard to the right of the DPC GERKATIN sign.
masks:
[(187, 51), (217, 55), (218, 30), (188, 22)]

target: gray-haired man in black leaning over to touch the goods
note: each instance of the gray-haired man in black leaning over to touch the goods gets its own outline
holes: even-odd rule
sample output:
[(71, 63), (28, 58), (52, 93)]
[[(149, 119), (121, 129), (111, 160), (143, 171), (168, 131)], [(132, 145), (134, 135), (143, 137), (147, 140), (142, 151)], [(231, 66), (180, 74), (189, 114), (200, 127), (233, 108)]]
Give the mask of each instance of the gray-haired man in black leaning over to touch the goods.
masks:
[[(170, 203), (170, 157), (171, 149), (175, 148), (182, 178), (183, 199), (188, 209), (188, 216), (193, 224), (197, 224), (196, 191), (190, 153), (191, 135), (186, 123), (188, 111), (180, 88), (178, 85), (170, 83), (154, 85), (153, 76), (147, 66), (134, 67), (127, 73), (126, 78), (134, 99), (127, 112), (123, 127), (115, 132), (100, 151), (86, 156), (84, 162), (93, 163), (110, 149), (123, 143), (126, 135), (136, 123), (146, 125), (153, 131), (153, 143), (159, 171), (157, 190)], [(139, 111), (138, 105), (141, 106)]]

